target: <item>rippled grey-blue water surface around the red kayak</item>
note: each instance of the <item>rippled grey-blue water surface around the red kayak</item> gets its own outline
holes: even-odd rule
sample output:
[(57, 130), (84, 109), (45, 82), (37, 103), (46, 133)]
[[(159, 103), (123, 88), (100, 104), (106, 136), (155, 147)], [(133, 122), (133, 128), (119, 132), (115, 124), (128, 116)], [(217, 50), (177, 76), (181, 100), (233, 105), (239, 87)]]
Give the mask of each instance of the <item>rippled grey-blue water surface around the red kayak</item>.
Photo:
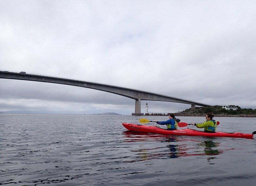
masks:
[[(158, 135), (122, 125), (139, 124), (140, 118), (168, 119), (0, 114), (0, 185), (256, 185), (256, 135)], [(218, 131), (256, 130), (256, 118), (214, 119), (220, 121)]]

